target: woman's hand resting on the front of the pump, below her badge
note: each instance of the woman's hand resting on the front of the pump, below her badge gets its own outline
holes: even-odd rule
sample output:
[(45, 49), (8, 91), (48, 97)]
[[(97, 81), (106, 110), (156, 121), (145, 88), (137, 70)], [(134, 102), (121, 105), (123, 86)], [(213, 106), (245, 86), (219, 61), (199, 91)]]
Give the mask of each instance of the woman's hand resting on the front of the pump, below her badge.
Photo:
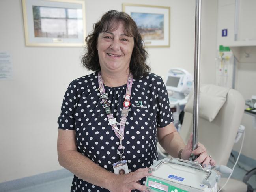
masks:
[(138, 181), (152, 175), (151, 168), (138, 169), (125, 175), (114, 175), (109, 183), (111, 192), (131, 192), (131, 190), (150, 191), (149, 187), (141, 185)]

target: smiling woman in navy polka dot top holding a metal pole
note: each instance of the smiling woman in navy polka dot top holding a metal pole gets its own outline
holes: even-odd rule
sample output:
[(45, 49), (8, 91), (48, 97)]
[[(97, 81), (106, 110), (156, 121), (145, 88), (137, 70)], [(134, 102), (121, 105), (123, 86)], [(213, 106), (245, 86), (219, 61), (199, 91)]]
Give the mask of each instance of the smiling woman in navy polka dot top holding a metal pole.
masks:
[[(158, 158), (156, 136), (173, 157), (187, 158), (191, 145), (172, 124), (166, 87), (149, 73), (129, 15), (108, 11), (86, 42), (82, 63), (94, 73), (69, 84), (58, 118), (58, 158), (74, 173), (71, 191), (150, 191), (144, 184)], [(199, 153), (199, 162), (209, 157), (200, 146)]]

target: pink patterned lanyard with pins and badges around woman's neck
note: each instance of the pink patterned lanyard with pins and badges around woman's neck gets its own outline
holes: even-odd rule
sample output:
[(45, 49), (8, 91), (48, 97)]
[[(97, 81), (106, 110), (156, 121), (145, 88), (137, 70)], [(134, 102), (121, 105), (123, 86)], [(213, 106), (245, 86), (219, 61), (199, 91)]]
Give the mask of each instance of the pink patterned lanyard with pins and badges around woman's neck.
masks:
[[(99, 91), (101, 93), (100, 97), (102, 99), (102, 106), (105, 109), (105, 112), (107, 114), (108, 123), (111, 125), (112, 130), (114, 130), (116, 136), (120, 140), (118, 150), (123, 149), (123, 152), (124, 152), (125, 147), (122, 145), (122, 140), (124, 139), (125, 122), (127, 121), (129, 106), (131, 105), (130, 97), (131, 97), (132, 82), (133, 82), (133, 75), (130, 73), (128, 76), (128, 80), (127, 80), (125, 101), (123, 102), (123, 110), (121, 112), (122, 117), (121, 117), (121, 121), (119, 123), (120, 128), (118, 129), (118, 127), (116, 125), (116, 123), (117, 123), (116, 118), (113, 117), (113, 114), (111, 113), (111, 110), (110, 110), (110, 104), (108, 103), (108, 93), (105, 92), (101, 72), (99, 71), (99, 73), (98, 73), (98, 83), (99, 83)], [(120, 151), (118, 151), (117, 153), (118, 153), (118, 155), (121, 156), (123, 154), (123, 152), (120, 153)]]

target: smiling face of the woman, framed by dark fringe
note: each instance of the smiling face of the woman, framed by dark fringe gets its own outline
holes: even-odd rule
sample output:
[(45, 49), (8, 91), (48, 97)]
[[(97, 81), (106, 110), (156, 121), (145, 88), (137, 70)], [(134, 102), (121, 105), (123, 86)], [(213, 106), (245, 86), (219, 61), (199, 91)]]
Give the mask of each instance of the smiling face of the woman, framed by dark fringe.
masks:
[(133, 37), (125, 34), (121, 22), (116, 30), (100, 33), (97, 50), (101, 70), (126, 71), (129, 68), (133, 47)]

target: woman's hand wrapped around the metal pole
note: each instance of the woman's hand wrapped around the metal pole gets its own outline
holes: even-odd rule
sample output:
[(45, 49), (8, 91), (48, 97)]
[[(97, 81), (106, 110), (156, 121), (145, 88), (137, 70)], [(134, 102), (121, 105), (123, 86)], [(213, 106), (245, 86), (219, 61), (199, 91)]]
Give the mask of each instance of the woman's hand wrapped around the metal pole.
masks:
[(202, 166), (205, 168), (208, 164), (211, 166), (215, 165), (215, 160), (211, 158), (210, 155), (207, 154), (206, 148), (203, 144), (198, 143), (198, 147), (193, 150), (193, 134), (191, 133), (189, 141), (187, 145), (184, 147), (181, 158), (185, 160), (189, 160), (189, 157), (192, 155), (198, 155), (198, 158), (195, 159), (198, 163), (202, 163)]

